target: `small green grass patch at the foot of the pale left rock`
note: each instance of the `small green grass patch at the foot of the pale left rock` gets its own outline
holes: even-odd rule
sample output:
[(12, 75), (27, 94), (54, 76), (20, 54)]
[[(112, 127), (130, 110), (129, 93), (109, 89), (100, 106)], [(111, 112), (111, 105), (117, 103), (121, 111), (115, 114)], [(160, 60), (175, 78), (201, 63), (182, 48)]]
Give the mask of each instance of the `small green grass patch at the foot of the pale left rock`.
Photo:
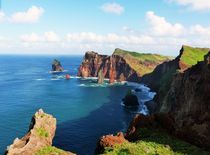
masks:
[(35, 155), (62, 155), (62, 154), (65, 154), (63, 150), (60, 150), (53, 146), (46, 146), (35, 153)]

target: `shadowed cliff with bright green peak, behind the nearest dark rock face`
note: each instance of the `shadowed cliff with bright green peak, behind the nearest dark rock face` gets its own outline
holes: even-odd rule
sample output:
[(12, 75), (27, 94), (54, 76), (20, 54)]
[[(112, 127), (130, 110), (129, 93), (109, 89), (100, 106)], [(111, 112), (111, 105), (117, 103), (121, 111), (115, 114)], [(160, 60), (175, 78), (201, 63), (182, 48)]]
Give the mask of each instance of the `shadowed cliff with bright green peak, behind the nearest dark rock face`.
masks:
[(183, 73), (188, 68), (204, 60), (204, 56), (208, 53), (208, 48), (193, 48), (183, 46), (180, 54), (169, 62), (158, 65), (153, 72), (145, 74), (141, 78), (141, 82), (152, 88), (157, 95), (153, 104), (152, 112), (168, 112), (170, 104), (166, 96), (171, 88), (173, 78), (176, 74)]

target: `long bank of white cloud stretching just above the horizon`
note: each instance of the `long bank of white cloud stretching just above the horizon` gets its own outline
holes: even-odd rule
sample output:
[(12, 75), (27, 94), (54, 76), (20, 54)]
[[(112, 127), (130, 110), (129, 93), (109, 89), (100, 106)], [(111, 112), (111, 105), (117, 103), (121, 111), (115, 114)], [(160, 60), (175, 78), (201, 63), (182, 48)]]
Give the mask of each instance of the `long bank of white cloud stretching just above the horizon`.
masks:
[[(42, 34), (31, 33), (17, 39), (5, 40), (0, 37), (0, 50), (25, 51), (37, 54), (83, 54), (94, 50), (102, 54), (111, 54), (115, 48), (133, 51), (153, 52), (176, 56), (183, 44), (199, 47), (210, 46), (210, 26), (191, 25), (184, 27), (179, 23), (170, 23), (164, 17), (149, 11), (146, 13), (149, 26), (144, 31), (123, 27), (122, 34), (94, 32), (68, 33), (63, 37), (53, 31)], [(1, 52), (0, 51), (0, 52)], [(44, 51), (44, 52), (43, 52)]]

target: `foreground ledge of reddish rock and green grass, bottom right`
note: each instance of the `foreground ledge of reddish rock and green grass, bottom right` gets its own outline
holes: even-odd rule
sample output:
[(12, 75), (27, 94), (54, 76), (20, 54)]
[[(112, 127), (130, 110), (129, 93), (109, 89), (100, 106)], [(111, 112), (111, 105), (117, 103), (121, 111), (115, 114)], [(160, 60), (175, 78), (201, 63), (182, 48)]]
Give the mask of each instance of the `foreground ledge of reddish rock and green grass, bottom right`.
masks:
[[(103, 136), (97, 145), (96, 153), (116, 154), (178, 154), (208, 155), (209, 152), (175, 138), (166, 133), (173, 131), (173, 119), (166, 114), (151, 116), (137, 115), (130, 123), (124, 136)], [(165, 128), (165, 129), (164, 129)]]

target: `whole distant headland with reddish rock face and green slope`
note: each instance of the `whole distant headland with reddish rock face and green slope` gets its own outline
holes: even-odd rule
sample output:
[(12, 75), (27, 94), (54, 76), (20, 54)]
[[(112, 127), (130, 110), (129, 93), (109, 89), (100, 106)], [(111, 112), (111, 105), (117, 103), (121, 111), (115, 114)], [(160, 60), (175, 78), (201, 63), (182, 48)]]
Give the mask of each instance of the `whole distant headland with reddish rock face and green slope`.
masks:
[(105, 78), (111, 82), (134, 81), (138, 82), (140, 77), (150, 73), (168, 57), (153, 54), (140, 54), (116, 49), (111, 56), (100, 55), (95, 52), (87, 52), (80, 65), (78, 76), (98, 77), (102, 70)]

